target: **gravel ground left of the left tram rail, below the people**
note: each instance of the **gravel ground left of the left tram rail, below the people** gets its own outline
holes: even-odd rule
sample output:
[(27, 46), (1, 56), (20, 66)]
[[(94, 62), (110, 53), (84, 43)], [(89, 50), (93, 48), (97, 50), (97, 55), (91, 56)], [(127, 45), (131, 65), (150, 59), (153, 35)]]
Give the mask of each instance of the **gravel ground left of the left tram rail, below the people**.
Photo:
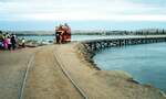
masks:
[(32, 50), (0, 52), (0, 99), (19, 98), (24, 72), (33, 53)]

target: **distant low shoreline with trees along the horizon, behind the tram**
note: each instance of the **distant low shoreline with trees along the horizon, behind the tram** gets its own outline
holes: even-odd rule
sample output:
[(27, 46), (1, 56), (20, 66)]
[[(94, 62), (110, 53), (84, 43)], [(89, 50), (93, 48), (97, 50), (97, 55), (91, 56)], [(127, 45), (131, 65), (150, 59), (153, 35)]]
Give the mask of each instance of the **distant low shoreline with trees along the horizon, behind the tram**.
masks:
[[(54, 31), (2, 31), (15, 35), (54, 35)], [(165, 29), (126, 30), (73, 30), (72, 35), (163, 35)]]

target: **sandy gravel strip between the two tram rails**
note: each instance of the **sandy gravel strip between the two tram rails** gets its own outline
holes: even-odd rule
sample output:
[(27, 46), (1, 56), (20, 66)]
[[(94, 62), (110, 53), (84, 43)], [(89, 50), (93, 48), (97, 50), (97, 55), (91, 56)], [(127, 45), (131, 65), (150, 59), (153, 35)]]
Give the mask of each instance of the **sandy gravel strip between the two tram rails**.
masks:
[(54, 46), (41, 48), (29, 72), (24, 99), (82, 99), (54, 58)]

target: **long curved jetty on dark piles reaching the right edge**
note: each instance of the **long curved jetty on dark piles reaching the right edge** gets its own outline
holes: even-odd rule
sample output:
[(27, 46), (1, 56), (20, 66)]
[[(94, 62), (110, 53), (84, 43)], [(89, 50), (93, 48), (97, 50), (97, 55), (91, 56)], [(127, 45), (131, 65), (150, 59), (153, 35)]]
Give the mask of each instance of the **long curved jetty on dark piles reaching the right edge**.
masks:
[(137, 36), (120, 36), (113, 38), (100, 38), (83, 41), (82, 43), (89, 51), (98, 51), (104, 47), (116, 47), (124, 45), (148, 44), (166, 42), (166, 35), (137, 35)]

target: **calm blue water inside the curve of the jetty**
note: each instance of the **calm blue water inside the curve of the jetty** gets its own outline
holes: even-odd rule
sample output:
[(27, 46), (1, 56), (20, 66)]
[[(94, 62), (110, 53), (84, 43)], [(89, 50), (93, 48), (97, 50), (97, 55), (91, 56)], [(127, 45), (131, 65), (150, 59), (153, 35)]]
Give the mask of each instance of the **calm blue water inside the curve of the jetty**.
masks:
[(94, 56), (100, 68), (125, 70), (166, 92), (166, 43), (106, 48)]

